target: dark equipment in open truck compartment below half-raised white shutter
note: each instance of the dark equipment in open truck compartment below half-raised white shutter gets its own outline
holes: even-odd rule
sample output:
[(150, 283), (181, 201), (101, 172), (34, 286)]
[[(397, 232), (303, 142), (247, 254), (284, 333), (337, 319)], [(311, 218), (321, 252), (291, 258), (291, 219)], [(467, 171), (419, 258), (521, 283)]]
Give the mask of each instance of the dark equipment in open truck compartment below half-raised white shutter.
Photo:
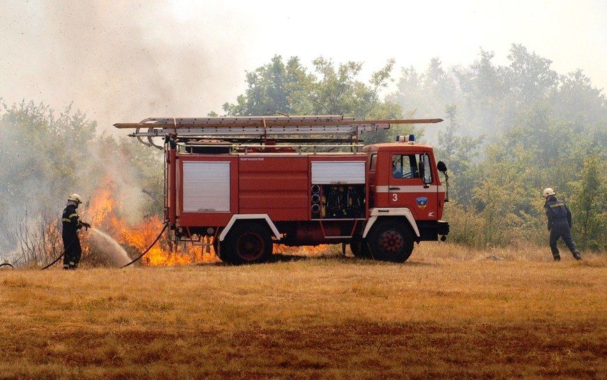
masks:
[(364, 184), (314, 184), (311, 192), (312, 219), (365, 217)]

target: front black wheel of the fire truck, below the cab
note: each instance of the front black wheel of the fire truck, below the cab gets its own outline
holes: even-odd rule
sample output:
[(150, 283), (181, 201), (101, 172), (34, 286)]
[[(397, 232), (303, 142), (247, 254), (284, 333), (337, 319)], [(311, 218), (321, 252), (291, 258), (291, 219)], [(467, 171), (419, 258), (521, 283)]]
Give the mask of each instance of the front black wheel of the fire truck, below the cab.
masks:
[(371, 228), (367, 236), (373, 258), (404, 263), (413, 251), (413, 236), (402, 222), (387, 220)]

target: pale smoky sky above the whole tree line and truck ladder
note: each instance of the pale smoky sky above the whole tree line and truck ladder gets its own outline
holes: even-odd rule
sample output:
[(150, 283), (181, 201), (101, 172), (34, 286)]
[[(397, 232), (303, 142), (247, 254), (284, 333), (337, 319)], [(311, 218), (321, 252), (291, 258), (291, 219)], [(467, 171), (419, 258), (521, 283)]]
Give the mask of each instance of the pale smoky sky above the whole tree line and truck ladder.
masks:
[(607, 88), (607, 1), (0, 0), (0, 97), (73, 103), (103, 131), (221, 112), (274, 54), (361, 61), (364, 79), (394, 58), (398, 79), (481, 47), (507, 64), (512, 43)]

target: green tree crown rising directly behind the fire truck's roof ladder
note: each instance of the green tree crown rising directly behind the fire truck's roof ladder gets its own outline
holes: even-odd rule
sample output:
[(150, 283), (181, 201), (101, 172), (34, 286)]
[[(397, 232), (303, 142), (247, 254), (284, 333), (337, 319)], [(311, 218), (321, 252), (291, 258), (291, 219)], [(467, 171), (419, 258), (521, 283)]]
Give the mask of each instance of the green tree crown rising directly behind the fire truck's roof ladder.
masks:
[[(247, 73), (244, 94), (236, 103), (225, 103), (227, 115), (345, 115), (356, 119), (391, 119), (403, 117), (400, 105), (382, 101), (380, 91), (387, 87), (394, 60), (371, 74), (368, 82), (358, 79), (363, 65), (349, 61), (335, 65), (319, 57), (313, 71), (301, 66), (298, 57), (284, 64), (280, 56), (270, 64)], [(213, 115), (216, 115), (213, 113)], [(395, 126), (391, 131), (368, 133), (366, 142), (391, 140), (399, 133), (412, 133), (410, 125)]]

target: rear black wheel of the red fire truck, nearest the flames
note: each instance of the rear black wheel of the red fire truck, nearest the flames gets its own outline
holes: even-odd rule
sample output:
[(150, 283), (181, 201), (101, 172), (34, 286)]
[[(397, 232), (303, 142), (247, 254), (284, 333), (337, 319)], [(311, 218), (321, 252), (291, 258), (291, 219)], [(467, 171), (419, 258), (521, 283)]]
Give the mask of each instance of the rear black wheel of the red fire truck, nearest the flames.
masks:
[(263, 263), (272, 254), (272, 238), (257, 223), (241, 223), (232, 228), (221, 243), (221, 261), (231, 264)]

